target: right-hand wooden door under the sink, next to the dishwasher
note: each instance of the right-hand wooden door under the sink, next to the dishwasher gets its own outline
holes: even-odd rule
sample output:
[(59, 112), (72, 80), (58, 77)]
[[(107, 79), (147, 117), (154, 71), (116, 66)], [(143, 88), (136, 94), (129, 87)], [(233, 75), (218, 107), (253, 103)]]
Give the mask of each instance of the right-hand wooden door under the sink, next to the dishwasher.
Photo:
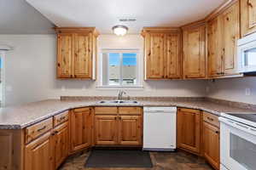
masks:
[(119, 144), (142, 144), (142, 116), (119, 116)]

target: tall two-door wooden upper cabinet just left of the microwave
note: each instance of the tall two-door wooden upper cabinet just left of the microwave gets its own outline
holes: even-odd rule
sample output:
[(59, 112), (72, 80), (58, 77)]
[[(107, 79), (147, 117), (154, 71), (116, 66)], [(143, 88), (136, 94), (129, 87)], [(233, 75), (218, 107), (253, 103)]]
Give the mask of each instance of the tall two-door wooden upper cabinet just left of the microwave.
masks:
[(236, 1), (207, 22), (208, 77), (239, 74), (236, 57), (239, 38), (239, 2)]

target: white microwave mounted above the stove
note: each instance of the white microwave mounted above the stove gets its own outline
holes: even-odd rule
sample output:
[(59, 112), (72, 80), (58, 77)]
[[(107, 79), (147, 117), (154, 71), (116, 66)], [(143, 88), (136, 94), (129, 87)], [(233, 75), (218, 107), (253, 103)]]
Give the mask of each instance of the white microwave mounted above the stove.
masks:
[(237, 62), (241, 73), (256, 73), (256, 33), (237, 41)]

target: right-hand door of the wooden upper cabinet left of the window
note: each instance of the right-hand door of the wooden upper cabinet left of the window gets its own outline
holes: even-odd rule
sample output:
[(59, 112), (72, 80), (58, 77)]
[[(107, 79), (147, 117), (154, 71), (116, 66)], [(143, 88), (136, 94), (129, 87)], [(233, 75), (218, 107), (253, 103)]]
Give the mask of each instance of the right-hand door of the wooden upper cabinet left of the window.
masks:
[(78, 33), (75, 35), (74, 77), (92, 77), (92, 34)]

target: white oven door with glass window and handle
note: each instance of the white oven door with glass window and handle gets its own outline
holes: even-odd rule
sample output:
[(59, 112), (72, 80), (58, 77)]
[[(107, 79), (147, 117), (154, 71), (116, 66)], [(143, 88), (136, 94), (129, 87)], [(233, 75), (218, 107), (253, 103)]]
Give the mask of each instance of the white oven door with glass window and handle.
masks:
[(219, 121), (221, 164), (230, 170), (255, 170), (255, 129), (224, 117), (219, 117)]

